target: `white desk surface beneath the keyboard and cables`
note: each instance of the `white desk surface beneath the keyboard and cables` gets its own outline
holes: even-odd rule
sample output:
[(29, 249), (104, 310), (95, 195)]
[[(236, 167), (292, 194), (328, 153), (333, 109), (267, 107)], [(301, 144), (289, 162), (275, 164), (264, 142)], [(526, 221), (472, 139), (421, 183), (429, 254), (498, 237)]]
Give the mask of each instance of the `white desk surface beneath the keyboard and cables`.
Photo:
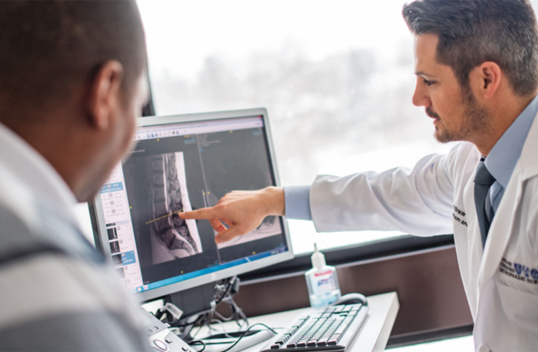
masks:
[[(367, 298), (369, 311), (362, 327), (346, 351), (383, 351), (391, 334), (394, 320), (400, 308), (398, 294), (389, 292)], [(308, 308), (279, 312), (249, 318), (249, 323), (264, 323), (272, 327), (286, 327), (296, 315)], [(226, 323), (228, 324), (228, 323)], [(237, 326), (236, 326), (237, 327)], [(267, 341), (245, 349), (245, 352), (259, 351)]]

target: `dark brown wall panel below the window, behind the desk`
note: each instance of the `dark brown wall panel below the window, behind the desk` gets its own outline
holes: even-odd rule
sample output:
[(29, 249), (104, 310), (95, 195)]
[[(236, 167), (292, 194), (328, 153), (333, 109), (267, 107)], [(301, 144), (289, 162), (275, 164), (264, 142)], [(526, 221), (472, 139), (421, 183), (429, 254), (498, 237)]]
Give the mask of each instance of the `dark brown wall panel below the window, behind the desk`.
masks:
[[(472, 324), (454, 248), (337, 268), (342, 293), (397, 291), (400, 311), (391, 336)], [(307, 307), (305, 278), (244, 284), (236, 295), (247, 316)]]

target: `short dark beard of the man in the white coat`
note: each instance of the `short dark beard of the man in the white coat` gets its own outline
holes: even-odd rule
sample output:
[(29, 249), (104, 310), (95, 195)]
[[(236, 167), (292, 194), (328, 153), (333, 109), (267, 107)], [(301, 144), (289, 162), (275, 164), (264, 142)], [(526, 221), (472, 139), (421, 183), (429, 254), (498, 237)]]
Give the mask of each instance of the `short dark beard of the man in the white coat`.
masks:
[(486, 109), (480, 107), (470, 89), (465, 89), (462, 93), (462, 104), (465, 108), (463, 111), (462, 124), (458, 130), (448, 130), (439, 115), (426, 108), (426, 115), (433, 117), (441, 122), (441, 126), (435, 127), (434, 137), (440, 143), (454, 142), (455, 140), (470, 141), (477, 134), (486, 133), (489, 130), (489, 116)]

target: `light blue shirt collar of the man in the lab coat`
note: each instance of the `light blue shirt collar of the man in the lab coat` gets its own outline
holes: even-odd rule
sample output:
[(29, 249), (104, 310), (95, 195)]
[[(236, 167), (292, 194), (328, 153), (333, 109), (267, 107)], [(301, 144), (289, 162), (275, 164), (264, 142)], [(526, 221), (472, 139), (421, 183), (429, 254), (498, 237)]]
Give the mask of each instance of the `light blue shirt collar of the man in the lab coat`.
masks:
[(525, 144), (530, 125), (533, 124), (537, 111), (538, 96), (535, 96), (502, 134), (486, 158), (487, 170), (503, 188), (508, 185), (515, 164), (518, 163), (523, 144)]

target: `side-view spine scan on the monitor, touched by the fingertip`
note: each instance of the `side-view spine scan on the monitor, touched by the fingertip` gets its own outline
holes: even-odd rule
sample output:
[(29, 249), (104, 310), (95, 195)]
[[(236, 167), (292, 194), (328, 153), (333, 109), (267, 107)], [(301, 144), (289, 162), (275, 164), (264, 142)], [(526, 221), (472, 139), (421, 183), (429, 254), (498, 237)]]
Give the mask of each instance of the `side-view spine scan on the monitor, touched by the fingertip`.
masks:
[[(178, 216), (192, 210), (183, 153), (131, 157), (123, 169), (140, 264), (200, 254), (202, 244), (195, 220)], [(147, 245), (151, 250), (144, 248)]]

